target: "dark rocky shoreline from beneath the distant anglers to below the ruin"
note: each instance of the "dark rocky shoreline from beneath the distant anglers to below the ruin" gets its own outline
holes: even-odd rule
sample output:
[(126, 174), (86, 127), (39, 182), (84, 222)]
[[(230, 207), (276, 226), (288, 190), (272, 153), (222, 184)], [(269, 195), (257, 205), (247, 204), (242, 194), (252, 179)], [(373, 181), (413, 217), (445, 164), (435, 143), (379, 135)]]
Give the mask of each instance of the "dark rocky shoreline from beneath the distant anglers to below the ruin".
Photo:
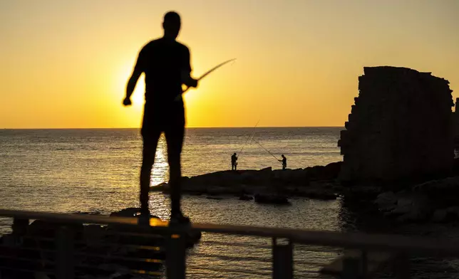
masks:
[[(458, 161), (459, 162), (459, 161)], [(365, 204), (366, 211), (395, 221), (449, 222), (459, 221), (458, 165), (450, 177), (416, 179), (366, 184), (341, 184), (342, 162), (305, 169), (222, 171), (183, 177), (185, 194), (207, 196), (207, 199), (254, 200), (260, 204), (289, 204), (290, 198), (334, 200), (342, 197), (353, 204)], [(151, 191), (167, 193), (167, 183), (153, 186)], [(373, 208), (369, 209), (368, 204)]]

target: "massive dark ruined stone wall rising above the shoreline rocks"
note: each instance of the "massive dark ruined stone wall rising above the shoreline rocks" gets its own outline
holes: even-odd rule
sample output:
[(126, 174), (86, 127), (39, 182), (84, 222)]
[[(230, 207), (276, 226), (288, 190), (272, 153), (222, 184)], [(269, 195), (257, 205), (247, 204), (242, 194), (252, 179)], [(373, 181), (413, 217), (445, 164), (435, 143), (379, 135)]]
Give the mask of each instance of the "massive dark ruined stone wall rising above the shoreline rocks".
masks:
[(448, 80), (409, 68), (365, 67), (346, 130), (342, 181), (397, 181), (453, 167), (453, 92)]

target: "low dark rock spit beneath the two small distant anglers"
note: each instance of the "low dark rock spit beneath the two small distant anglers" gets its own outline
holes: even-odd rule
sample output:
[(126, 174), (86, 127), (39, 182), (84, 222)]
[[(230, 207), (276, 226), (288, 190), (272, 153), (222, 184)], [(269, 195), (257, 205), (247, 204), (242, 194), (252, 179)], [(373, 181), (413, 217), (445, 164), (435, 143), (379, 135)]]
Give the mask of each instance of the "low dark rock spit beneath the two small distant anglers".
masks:
[[(341, 162), (305, 169), (278, 169), (222, 171), (182, 179), (182, 191), (186, 194), (215, 196), (238, 196), (248, 200), (247, 195), (274, 193), (284, 196), (304, 196), (311, 199), (336, 199), (341, 189), (335, 180)], [(162, 183), (150, 191), (169, 191)]]

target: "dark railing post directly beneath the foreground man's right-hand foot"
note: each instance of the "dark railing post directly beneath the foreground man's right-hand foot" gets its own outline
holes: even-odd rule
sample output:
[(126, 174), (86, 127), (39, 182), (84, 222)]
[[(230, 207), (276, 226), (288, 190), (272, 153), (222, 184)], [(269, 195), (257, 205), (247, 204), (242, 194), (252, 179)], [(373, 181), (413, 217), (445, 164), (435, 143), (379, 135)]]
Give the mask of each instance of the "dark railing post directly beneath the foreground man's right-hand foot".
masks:
[(166, 247), (167, 279), (185, 279), (185, 235), (171, 234)]

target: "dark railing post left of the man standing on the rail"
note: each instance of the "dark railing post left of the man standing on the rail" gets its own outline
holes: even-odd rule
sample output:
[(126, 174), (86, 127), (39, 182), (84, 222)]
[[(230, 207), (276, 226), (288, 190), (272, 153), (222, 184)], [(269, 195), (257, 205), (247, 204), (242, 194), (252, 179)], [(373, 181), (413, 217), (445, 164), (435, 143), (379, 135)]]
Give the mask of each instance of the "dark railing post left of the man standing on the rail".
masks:
[(56, 278), (75, 277), (73, 248), (73, 231), (67, 226), (59, 227), (56, 231)]

